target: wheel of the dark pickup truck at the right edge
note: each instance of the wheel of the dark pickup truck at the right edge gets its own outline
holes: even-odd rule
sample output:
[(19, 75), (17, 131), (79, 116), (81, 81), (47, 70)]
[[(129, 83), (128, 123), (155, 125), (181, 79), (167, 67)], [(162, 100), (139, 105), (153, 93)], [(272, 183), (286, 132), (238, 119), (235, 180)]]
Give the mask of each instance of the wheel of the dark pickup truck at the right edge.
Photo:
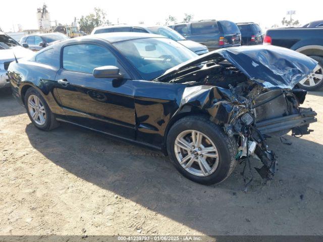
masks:
[(323, 86), (323, 57), (310, 55), (312, 59), (318, 62), (318, 65), (309, 75), (309, 78), (301, 81), (298, 85), (300, 88), (307, 91), (315, 91)]

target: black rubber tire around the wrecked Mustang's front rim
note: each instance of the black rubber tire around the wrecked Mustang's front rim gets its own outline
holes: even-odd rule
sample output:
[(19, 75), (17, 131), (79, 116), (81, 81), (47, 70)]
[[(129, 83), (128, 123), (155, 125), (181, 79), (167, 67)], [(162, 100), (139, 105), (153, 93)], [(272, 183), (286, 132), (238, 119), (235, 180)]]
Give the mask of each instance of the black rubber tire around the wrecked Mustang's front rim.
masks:
[[(175, 141), (179, 134), (185, 130), (196, 130), (211, 139), (217, 147), (219, 164), (216, 170), (207, 176), (197, 176), (188, 172), (179, 163), (175, 154)], [(167, 136), (167, 151), (176, 169), (188, 179), (203, 185), (219, 184), (224, 181), (236, 166), (236, 141), (228, 137), (223, 129), (210, 122), (206, 116), (192, 115), (181, 118), (170, 129)]]

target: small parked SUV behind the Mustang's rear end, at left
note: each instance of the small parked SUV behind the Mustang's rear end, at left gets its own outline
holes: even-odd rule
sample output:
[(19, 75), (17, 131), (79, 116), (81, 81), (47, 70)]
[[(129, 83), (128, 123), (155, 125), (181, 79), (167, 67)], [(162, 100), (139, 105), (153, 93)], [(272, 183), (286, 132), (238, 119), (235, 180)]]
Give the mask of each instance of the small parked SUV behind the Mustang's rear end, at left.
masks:
[(20, 39), (20, 44), (27, 43), (29, 49), (38, 51), (46, 46), (69, 39), (62, 33), (30, 34)]

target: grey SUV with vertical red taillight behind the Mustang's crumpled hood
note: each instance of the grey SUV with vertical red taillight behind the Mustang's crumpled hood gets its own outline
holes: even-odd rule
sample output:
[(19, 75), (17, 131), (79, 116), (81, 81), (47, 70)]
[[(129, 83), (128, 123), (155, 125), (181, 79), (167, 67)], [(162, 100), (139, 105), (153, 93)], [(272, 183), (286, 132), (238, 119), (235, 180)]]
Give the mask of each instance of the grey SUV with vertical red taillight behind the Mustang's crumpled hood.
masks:
[(206, 45), (209, 51), (241, 45), (241, 33), (231, 21), (202, 20), (169, 26), (185, 38)]

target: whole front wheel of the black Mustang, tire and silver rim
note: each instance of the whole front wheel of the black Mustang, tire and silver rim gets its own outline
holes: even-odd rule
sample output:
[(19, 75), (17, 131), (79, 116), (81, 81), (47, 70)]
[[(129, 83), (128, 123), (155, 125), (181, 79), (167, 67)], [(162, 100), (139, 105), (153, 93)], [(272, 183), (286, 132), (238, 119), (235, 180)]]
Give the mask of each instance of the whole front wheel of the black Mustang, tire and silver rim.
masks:
[(181, 174), (203, 185), (221, 183), (236, 165), (235, 140), (204, 116), (178, 120), (169, 131), (167, 150)]

